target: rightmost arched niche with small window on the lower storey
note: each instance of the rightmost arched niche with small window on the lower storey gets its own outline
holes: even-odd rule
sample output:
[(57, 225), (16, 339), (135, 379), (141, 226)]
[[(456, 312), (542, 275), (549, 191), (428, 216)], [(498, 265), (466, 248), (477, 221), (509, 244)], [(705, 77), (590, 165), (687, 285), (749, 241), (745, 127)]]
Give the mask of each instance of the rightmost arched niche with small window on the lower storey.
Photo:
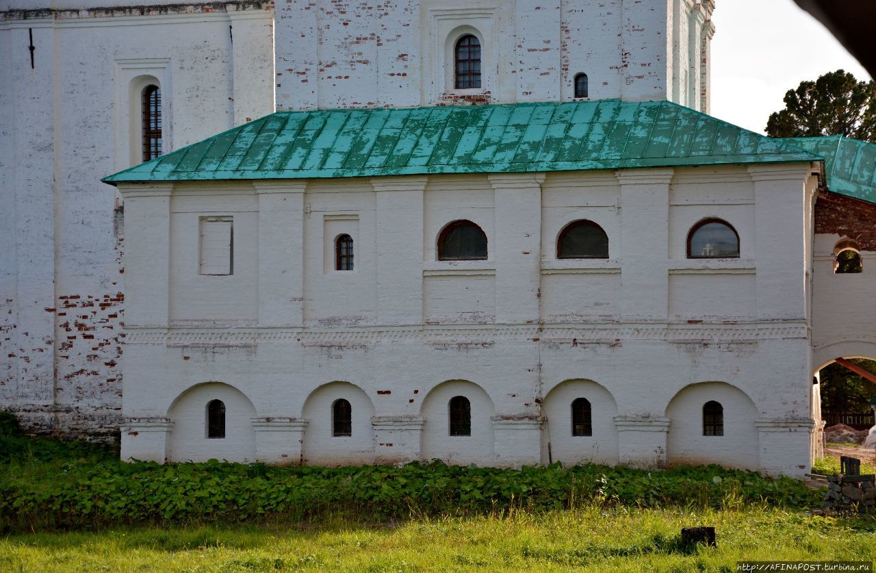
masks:
[[(723, 435), (704, 435), (703, 406), (714, 401), (723, 407)], [(759, 468), (758, 408), (747, 394), (724, 382), (685, 386), (666, 408), (671, 420), (667, 436), (667, 463)]]

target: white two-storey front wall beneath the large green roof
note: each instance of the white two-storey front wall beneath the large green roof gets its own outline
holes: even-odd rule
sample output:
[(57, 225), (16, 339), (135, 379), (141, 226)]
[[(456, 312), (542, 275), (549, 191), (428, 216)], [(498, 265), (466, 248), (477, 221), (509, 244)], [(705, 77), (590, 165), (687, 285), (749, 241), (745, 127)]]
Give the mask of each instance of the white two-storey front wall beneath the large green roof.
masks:
[[(702, 412), (690, 414), (686, 400), (703, 398), (689, 386), (718, 380), (731, 388), (721, 394), (728, 420), (747, 434), (732, 438), (742, 436), (734, 429), (725, 442), (736, 442), (711, 461), (800, 475), (813, 424), (802, 284), (815, 183), (809, 165), (780, 165), (124, 184), (127, 236), (167, 244), (166, 254), (126, 254), (127, 279), (149, 295), (128, 300), (124, 456), (153, 456), (161, 432), (180, 439), (175, 425), (141, 442), (131, 433), (166, 424), (187, 388), (222, 380), (251, 400), (266, 461), (341, 460), (329, 455), (337, 440), (321, 435), (327, 405), (343, 397), (373, 414), (371, 434), (364, 418), (354, 422), (361, 432), (336, 452), (342, 461), (519, 465), (547, 462), (551, 442), (550, 456), (569, 463), (703, 462), (702, 436), (690, 429)], [(250, 265), (239, 275), (188, 286), (173, 278), (197, 268), (195, 207), (235, 217), (235, 260)], [(687, 231), (706, 216), (734, 225), (741, 258), (685, 258)], [(487, 260), (436, 260), (438, 233), (460, 218), (483, 226)], [(556, 259), (559, 231), (580, 218), (603, 225), (611, 258)], [(158, 227), (172, 232), (162, 239)], [(327, 241), (348, 229), (355, 271), (336, 272)], [(733, 292), (750, 284), (753, 301)], [(176, 299), (187, 301), (185, 321), (168, 312)], [(686, 299), (697, 318), (681, 312)], [(595, 414), (598, 405), (592, 440), (563, 429), (579, 390), (593, 393)], [(470, 439), (448, 435), (457, 394), (472, 403)], [(759, 456), (734, 457), (742, 442)]]

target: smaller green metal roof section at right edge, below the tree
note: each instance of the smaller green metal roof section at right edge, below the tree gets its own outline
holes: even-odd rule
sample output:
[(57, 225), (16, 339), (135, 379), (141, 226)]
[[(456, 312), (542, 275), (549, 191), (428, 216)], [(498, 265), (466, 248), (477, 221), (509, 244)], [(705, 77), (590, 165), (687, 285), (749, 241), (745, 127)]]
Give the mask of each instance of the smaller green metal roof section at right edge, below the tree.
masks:
[(876, 203), (876, 145), (841, 135), (781, 141), (824, 158), (830, 191)]

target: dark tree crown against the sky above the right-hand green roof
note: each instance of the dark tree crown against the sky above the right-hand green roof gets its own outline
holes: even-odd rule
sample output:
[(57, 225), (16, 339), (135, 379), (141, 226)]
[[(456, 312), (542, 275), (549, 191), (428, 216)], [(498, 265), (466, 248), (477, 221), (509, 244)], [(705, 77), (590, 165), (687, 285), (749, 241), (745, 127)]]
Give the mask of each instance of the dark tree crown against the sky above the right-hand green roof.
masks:
[(801, 81), (785, 94), (785, 109), (770, 115), (771, 138), (842, 134), (876, 143), (876, 82), (858, 81), (838, 69), (816, 81)]

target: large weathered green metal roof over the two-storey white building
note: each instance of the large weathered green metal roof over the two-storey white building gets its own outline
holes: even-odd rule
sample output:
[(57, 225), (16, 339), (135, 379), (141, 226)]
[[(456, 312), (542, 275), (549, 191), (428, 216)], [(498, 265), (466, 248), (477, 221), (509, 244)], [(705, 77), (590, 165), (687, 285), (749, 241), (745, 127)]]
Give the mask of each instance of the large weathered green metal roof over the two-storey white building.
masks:
[(279, 111), (104, 181), (545, 172), (819, 160), (670, 102)]

